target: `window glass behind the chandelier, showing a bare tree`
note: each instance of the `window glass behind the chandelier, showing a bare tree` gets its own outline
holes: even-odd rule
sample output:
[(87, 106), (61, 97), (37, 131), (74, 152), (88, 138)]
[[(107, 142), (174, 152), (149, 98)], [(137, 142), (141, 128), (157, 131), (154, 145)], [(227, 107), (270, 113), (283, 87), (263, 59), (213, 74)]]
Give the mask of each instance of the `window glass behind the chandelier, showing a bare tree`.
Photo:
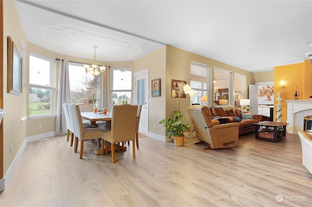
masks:
[(101, 73), (98, 76), (93, 76), (90, 72), (86, 73), (82, 64), (71, 62), (69, 65), (71, 103), (87, 103), (97, 107), (100, 95), (100, 80)]

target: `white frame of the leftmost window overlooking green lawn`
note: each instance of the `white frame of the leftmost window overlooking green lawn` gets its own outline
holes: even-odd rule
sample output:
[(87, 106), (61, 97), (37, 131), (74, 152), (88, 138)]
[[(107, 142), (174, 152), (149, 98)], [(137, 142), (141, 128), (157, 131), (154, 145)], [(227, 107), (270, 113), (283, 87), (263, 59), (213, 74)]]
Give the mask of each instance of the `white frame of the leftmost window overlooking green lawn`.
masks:
[[(42, 85), (37, 85), (37, 84), (31, 84), (30, 81), (29, 81), (29, 88), (31, 87), (35, 87), (35, 88), (40, 88), (40, 89), (49, 89), (51, 90), (50, 91), (50, 113), (48, 114), (34, 114), (34, 115), (31, 115), (29, 114), (29, 119), (36, 119), (36, 118), (47, 118), (47, 117), (55, 117), (56, 115), (53, 114), (53, 111), (54, 111), (54, 91), (56, 90), (55, 87), (53, 87), (53, 83), (54, 83), (54, 77), (53, 77), (53, 65), (55, 63), (55, 60), (51, 59), (51, 58), (48, 58), (48, 57), (44, 57), (42, 55), (39, 55), (37, 53), (33, 53), (33, 52), (30, 52), (29, 56), (34, 56), (34, 57), (37, 57), (37, 58), (40, 58), (40, 59), (43, 59), (43, 60), (46, 60), (46, 61), (49, 61), (50, 62), (50, 74), (49, 74), (49, 86), (42, 86)], [(30, 70), (30, 66), (29, 66), (29, 70)], [(30, 78), (30, 76), (29, 76)], [(29, 91), (28, 91), (29, 92)]]

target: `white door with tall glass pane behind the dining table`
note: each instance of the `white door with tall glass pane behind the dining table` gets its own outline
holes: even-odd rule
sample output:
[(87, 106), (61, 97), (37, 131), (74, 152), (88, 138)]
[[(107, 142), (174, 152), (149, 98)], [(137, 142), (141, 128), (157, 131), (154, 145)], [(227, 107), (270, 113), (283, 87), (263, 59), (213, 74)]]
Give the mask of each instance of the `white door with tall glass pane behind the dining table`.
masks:
[(134, 73), (135, 104), (142, 105), (138, 132), (148, 135), (148, 69)]

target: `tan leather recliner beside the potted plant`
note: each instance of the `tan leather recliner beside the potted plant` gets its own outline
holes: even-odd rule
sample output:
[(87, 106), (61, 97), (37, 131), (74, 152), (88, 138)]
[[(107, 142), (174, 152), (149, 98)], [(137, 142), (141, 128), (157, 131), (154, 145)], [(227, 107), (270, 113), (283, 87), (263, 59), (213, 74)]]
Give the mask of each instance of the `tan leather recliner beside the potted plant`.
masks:
[[(214, 125), (207, 114), (207, 106), (191, 105), (187, 108), (199, 142), (208, 145), (208, 149), (235, 147), (238, 140), (239, 123)], [(196, 143), (196, 144), (197, 144)]]

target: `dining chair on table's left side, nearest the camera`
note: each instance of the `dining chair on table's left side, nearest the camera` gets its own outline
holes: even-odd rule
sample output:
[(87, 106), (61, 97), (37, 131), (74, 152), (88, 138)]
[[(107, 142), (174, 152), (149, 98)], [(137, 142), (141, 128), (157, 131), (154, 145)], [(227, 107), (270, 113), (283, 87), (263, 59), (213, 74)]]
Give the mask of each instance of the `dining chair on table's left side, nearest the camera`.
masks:
[(80, 159), (83, 155), (83, 143), (84, 140), (101, 138), (102, 130), (97, 127), (94, 128), (84, 128), (82, 124), (82, 118), (79, 110), (79, 106), (72, 104), (69, 107), (72, 109), (74, 125), (75, 125), (75, 153), (78, 150), (78, 139), (80, 140)]

